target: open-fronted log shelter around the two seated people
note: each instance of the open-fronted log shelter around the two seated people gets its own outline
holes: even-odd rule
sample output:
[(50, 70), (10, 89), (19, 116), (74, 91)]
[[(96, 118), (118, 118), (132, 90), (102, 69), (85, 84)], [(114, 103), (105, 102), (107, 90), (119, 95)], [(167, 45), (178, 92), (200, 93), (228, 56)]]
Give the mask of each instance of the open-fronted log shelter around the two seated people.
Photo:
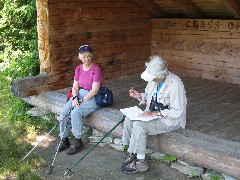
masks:
[(136, 101), (122, 95), (133, 85), (143, 90), (139, 74), (149, 56), (158, 54), (185, 83), (188, 130), (153, 138), (149, 147), (240, 178), (239, 0), (36, 2), (40, 74), (14, 80), (15, 96), (33, 105), (40, 96), (64, 97), (80, 63), (78, 48), (90, 44), (106, 85), (114, 90), (110, 109), (128, 107)]

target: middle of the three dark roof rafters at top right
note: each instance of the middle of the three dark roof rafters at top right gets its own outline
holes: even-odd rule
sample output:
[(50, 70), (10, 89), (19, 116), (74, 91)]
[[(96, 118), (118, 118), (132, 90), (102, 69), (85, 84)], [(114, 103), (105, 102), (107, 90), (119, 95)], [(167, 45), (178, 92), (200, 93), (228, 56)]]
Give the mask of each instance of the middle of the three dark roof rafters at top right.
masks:
[(190, 0), (172, 0), (190, 18), (203, 18), (203, 14)]

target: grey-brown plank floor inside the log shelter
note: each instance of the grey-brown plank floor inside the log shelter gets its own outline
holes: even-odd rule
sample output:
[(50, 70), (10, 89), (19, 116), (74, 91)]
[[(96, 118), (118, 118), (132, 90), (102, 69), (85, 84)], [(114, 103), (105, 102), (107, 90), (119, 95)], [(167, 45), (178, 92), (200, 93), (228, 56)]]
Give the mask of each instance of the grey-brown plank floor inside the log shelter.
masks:
[[(240, 85), (200, 78), (181, 77), (187, 92), (187, 127), (219, 138), (240, 141)], [(138, 105), (129, 97), (133, 87), (143, 92), (146, 82), (139, 75), (107, 80), (114, 94), (114, 108)]]

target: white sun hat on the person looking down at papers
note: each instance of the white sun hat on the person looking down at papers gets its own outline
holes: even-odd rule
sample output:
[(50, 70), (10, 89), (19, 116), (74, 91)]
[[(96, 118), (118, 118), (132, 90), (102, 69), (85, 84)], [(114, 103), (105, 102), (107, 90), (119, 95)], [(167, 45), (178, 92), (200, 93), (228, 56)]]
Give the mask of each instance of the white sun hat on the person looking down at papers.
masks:
[(145, 81), (152, 81), (155, 78), (161, 78), (167, 74), (167, 62), (160, 56), (151, 56), (150, 61), (145, 63), (146, 70), (141, 74), (141, 78)]

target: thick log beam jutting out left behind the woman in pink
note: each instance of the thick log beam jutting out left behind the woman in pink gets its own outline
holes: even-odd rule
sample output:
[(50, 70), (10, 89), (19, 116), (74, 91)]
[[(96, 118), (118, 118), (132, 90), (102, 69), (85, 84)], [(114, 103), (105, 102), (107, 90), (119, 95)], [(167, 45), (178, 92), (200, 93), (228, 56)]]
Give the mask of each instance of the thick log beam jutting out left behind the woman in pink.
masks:
[(54, 91), (71, 86), (73, 73), (62, 75), (38, 75), (15, 79), (11, 82), (11, 91), (18, 98), (38, 95), (41, 92)]

